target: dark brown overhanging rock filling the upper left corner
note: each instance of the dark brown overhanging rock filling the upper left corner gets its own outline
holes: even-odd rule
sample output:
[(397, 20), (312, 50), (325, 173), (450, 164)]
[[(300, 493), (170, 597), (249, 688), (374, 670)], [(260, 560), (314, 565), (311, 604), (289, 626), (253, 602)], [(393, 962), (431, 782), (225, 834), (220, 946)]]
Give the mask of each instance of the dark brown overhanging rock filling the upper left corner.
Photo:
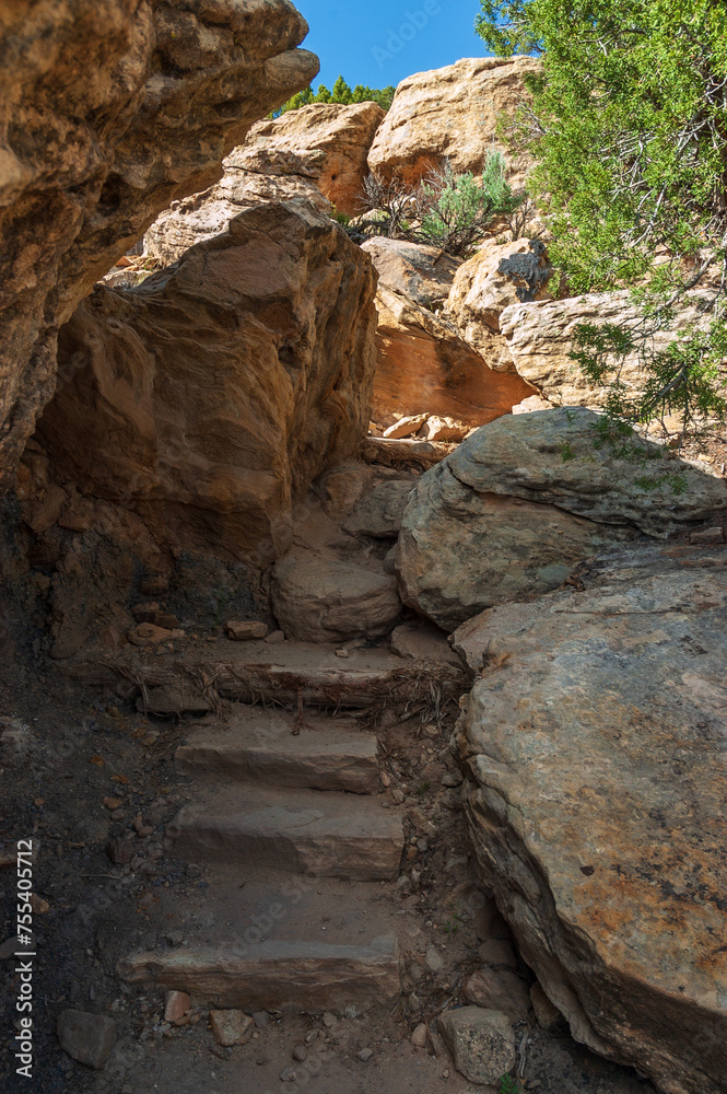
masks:
[(59, 325), (309, 83), (306, 33), (286, 0), (2, 4), (0, 488), (52, 395)]

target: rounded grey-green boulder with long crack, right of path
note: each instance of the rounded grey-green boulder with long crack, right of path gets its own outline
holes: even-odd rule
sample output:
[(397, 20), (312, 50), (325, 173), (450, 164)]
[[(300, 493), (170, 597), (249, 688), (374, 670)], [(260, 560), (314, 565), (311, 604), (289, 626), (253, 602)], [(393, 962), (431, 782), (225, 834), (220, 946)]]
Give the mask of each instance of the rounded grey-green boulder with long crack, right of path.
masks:
[(422, 476), (397, 547), (404, 604), (453, 630), (478, 612), (558, 589), (574, 565), (640, 534), (727, 509), (706, 465), (581, 408), (508, 416)]

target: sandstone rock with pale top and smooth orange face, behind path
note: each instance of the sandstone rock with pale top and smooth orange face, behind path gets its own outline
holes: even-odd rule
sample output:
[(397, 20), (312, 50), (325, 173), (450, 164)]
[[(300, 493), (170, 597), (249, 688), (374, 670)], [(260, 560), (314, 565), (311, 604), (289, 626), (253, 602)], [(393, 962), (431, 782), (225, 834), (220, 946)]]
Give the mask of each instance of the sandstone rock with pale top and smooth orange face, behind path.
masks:
[(452, 259), (434, 247), (391, 240), (370, 240), (363, 249), (379, 275), (374, 421), (390, 426), (404, 414), (438, 415), (482, 426), (532, 394), (519, 377), (489, 368), (441, 314), (437, 305), (456, 272)]

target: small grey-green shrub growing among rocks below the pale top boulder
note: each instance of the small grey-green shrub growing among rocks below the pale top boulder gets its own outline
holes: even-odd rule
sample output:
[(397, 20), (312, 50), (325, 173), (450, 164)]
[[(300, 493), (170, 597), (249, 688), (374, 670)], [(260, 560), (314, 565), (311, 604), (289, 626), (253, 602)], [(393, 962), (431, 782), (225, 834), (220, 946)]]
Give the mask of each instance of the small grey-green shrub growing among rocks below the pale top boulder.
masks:
[(505, 158), (489, 152), (482, 178), (456, 175), (450, 163), (430, 176), (422, 193), (429, 209), (422, 218), (422, 235), (429, 243), (453, 255), (466, 254), (497, 213), (511, 213), (520, 202), (505, 181)]

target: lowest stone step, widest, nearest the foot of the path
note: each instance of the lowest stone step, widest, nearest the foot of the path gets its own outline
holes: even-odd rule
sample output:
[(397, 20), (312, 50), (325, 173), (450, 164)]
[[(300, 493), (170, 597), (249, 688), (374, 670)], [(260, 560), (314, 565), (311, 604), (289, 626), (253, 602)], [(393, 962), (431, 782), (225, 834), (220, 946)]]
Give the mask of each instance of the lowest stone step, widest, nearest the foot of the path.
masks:
[(325, 942), (260, 942), (138, 953), (124, 958), (127, 984), (186, 991), (196, 1002), (247, 1011), (342, 1011), (387, 1004), (400, 993), (394, 935), (368, 946)]

